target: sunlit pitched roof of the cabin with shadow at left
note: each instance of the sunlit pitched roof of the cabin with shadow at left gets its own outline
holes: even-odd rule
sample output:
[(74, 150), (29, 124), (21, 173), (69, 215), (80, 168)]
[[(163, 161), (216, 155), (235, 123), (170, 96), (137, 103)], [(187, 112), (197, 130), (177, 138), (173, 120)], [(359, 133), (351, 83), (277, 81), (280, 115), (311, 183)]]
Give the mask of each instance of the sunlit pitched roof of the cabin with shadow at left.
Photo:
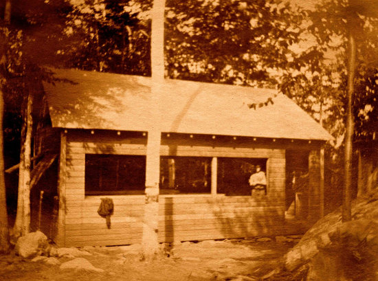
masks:
[[(151, 78), (54, 69), (66, 79), (45, 83), (54, 127), (148, 131)], [(160, 98), (162, 132), (291, 139), (331, 139), (315, 120), (287, 96), (250, 109), (278, 91), (215, 83), (166, 80)]]

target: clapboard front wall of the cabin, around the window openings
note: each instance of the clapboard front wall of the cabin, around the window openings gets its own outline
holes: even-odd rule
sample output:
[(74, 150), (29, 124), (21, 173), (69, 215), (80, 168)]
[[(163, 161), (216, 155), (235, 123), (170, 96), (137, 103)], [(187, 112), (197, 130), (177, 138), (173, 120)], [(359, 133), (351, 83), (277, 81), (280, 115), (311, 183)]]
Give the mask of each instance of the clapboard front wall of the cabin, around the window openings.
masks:
[[(113, 135), (111, 135), (113, 134)], [(65, 200), (60, 218), (60, 246), (125, 245), (140, 243), (143, 195), (85, 196), (85, 154), (145, 155), (142, 133), (62, 134), (60, 190)], [(211, 138), (211, 136), (210, 136)], [(62, 157), (62, 155), (64, 155)], [(225, 139), (171, 137), (162, 139), (161, 155), (251, 157), (267, 159), (267, 196), (175, 194), (159, 196), (159, 241), (203, 240), (274, 235), (285, 221), (285, 149), (274, 144), (229, 142)], [(114, 202), (111, 229), (97, 214), (100, 198)]]

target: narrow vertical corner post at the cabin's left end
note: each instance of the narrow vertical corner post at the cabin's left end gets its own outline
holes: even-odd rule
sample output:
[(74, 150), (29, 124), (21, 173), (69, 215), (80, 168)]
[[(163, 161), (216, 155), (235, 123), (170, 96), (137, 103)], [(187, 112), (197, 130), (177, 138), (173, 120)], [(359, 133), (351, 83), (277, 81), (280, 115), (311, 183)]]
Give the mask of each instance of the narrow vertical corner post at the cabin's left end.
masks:
[(65, 247), (65, 181), (66, 181), (66, 153), (67, 153), (67, 135), (64, 131), (60, 132), (60, 157), (59, 157), (59, 179), (58, 179), (58, 234), (56, 235), (56, 244), (59, 247)]

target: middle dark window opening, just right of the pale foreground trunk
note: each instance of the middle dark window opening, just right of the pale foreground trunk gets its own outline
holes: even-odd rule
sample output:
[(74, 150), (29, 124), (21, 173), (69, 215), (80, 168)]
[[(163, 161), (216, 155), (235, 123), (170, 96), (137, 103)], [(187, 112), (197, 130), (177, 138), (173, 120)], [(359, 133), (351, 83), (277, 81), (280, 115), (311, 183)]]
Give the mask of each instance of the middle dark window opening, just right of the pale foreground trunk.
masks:
[(211, 192), (211, 157), (160, 157), (160, 194)]

